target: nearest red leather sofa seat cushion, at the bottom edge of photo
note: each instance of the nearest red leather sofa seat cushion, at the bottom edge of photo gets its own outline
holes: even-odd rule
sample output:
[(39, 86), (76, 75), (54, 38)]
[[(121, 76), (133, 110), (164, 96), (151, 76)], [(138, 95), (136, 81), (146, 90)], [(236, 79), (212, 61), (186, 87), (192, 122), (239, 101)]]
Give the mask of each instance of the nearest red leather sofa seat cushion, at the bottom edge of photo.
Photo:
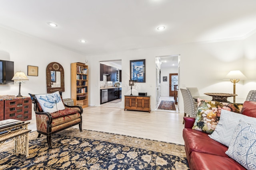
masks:
[(192, 152), (189, 164), (191, 170), (245, 170), (232, 158), (202, 152)]

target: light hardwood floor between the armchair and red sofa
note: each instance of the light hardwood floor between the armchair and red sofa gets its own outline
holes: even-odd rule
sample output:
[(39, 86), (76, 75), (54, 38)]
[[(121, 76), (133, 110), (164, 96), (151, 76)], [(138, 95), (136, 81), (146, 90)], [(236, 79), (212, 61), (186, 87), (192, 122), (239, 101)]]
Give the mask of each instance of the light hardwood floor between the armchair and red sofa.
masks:
[[(120, 107), (87, 107), (82, 114), (82, 129), (103, 131), (184, 145), (183, 114), (175, 111), (124, 111)], [(78, 128), (78, 125), (74, 126)], [(28, 126), (36, 130), (36, 121)]]

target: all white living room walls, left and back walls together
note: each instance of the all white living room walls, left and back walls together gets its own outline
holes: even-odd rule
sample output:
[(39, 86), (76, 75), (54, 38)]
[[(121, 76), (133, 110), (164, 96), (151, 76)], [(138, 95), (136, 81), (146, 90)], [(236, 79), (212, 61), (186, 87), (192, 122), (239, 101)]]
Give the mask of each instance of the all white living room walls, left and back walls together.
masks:
[[(233, 84), (223, 80), (230, 70), (241, 70), (248, 80), (236, 84), (236, 94), (245, 98), (256, 85), (256, 34), (245, 40), (218, 43), (192, 43), (151, 49), (138, 49), (112, 54), (84, 56), (52, 43), (0, 28), (0, 59), (14, 61), (14, 71), (24, 71), (27, 66), (38, 66), (38, 76), (28, 76), (21, 86), (21, 95), (46, 93), (46, 66), (51, 62), (62, 64), (65, 71), (63, 98), (70, 98), (70, 63), (88, 60), (90, 88), (89, 105), (100, 106), (100, 63), (99, 61), (122, 60), (122, 97), (130, 94), (130, 60), (146, 59), (146, 83), (136, 83), (133, 94), (148, 92), (155, 109), (155, 66), (156, 56), (180, 55), (180, 87), (198, 87), (206, 92), (233, 92)], [(163, 76), (163, 75), (162, 75)], [(18, 84), (1, 85), (0, 95), (18, 94)], [(183, 100), (179, 95), (180, 111)], [(124, 108), (124, 102), (122, 102)]]

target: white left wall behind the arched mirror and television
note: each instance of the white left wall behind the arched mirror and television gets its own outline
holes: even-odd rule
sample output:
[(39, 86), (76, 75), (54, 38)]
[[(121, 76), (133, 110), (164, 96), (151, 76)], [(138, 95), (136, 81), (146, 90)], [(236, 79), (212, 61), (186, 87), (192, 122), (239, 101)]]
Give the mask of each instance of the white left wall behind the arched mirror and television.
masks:
[[(29, 80), (21, 84), (22, 96), (29, 96), (28, 93), (46, 93), (46, 67), (51, 62), (60, 63), (64, 68), (65, 78), (63, 98), (71, 98), (70, 63), (84, 63), (86, 57), (41, 39), (0, 27), (0, 59), (14, 61), (14, 74), (23, 71), (27, 75), (28, 65), (38, 66), (38, 76), (28, 76)], [(0, 85), (0, 95), (17, 96), (18, 91), (18, 84)]]

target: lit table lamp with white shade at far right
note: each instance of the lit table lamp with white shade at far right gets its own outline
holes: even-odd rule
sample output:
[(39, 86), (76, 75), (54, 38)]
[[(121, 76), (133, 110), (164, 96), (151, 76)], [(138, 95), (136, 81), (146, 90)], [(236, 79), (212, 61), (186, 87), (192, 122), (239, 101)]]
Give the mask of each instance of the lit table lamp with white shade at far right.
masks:
[[(234, 85), (233, 94), (236, 94), (236, 83), (244, 79), (247, 79), (247, 77), (240, 70), (231, 70), (225, 77), (225, 80), (230, 80)], [(233, 102), (236, 102), (236, 96), (233, 97)]]

